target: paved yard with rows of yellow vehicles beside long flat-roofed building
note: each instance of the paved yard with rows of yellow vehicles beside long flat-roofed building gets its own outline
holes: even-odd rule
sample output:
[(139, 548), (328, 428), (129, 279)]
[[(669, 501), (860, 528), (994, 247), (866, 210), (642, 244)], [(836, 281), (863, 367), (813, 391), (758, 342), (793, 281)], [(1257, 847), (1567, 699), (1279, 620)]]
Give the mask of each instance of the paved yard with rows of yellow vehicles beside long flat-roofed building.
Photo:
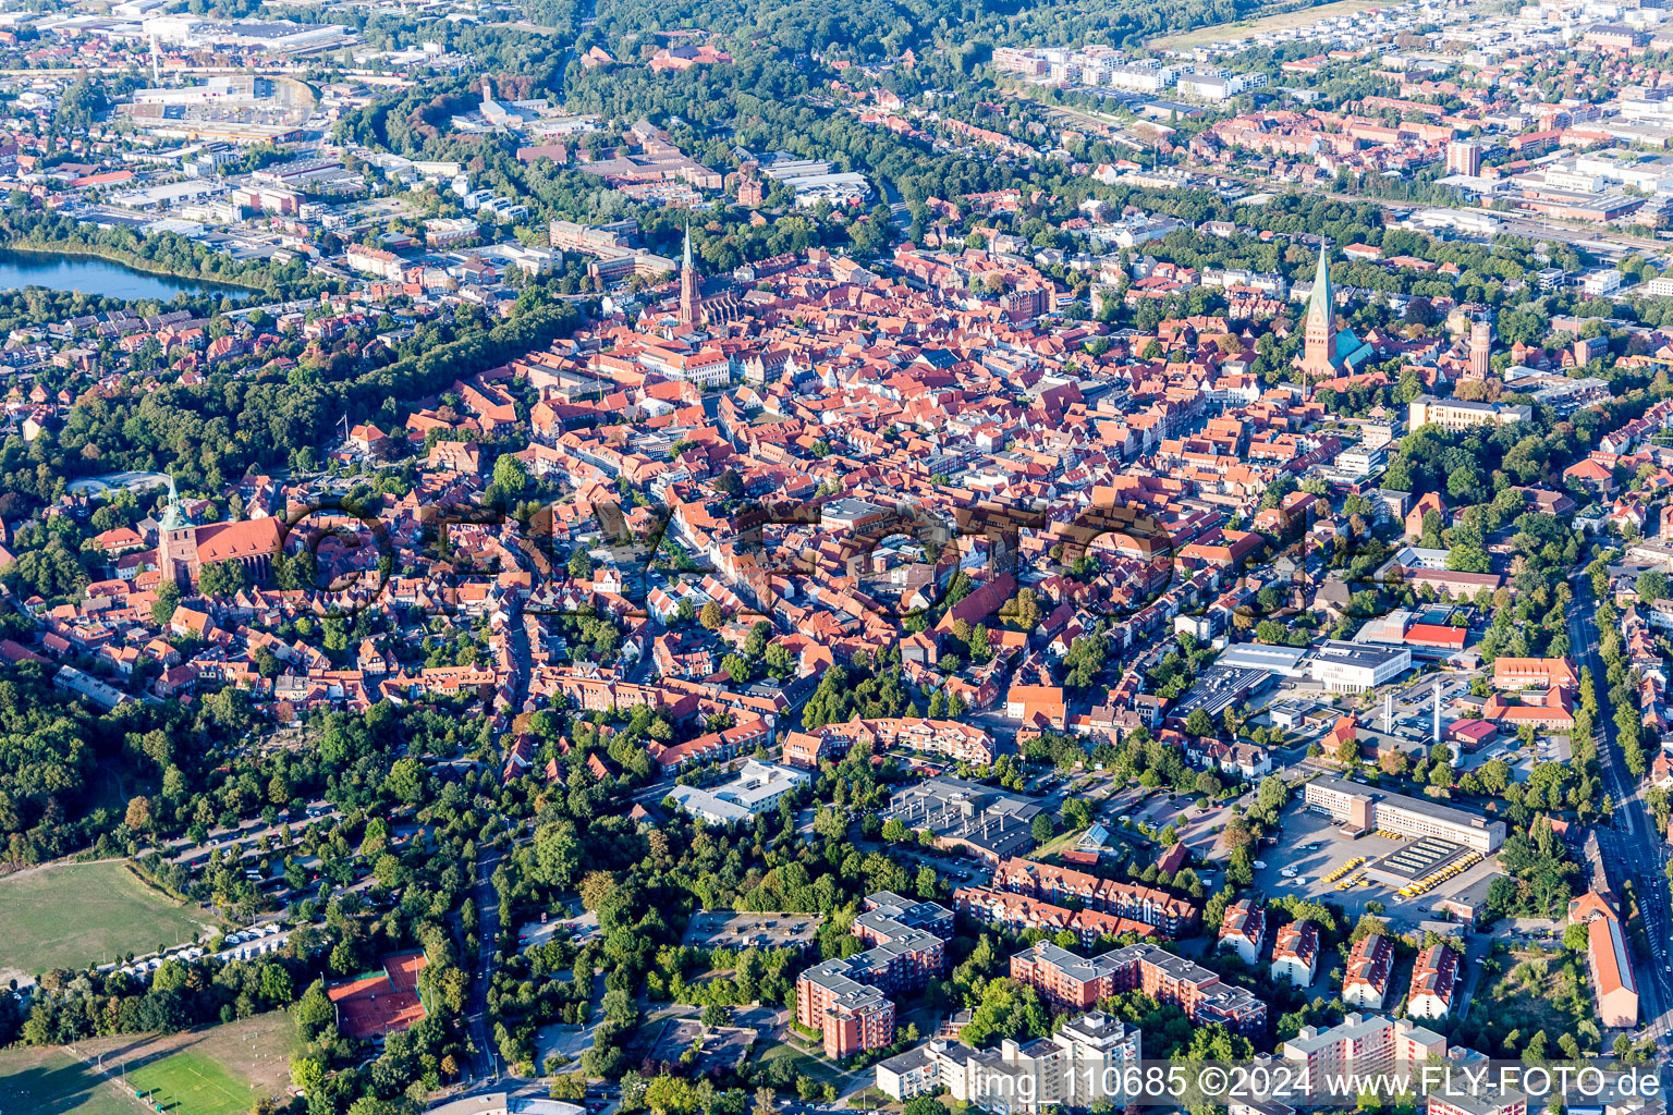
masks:
[[(1379, 901), (1385, 906), (1380, 916), (1404, 931), (1432, 918), (1434, 908), (1442, 898), (1456, 894), (1499, 869), (1497, 861), (1489, 858), (1415, 899), (1404, 899), (1399, 888), (1372, 881), (1350, 883), (1345, 889), (1337, 889), (1337, 883), (1352, 881), (1369, 864), (1414, 844), (1415, 841), (1410, 839), (1390, 839), (1377, 832), (1353, 839), (1345, 836), (1330, 817), (1295, 802), (1283, 814), (1283, 836), (1278, 838), (1278, 844), (1261, 848), (1256, 856), (1266, 866), (1255, 869), (1255, 886), (1268, 896), (1297, 894), (1335, 903), (1347, 909), (1350, 918), (1365, 913), (1365, 903)], [(1350, 859), (1363, 859), (1363, 863), (1347, 871), (1340, 879), (1325, 883), (1323, 876)], [(1285, 878), (1283, 871), (1287, 869), (1293, 871), (1295, 876)]]

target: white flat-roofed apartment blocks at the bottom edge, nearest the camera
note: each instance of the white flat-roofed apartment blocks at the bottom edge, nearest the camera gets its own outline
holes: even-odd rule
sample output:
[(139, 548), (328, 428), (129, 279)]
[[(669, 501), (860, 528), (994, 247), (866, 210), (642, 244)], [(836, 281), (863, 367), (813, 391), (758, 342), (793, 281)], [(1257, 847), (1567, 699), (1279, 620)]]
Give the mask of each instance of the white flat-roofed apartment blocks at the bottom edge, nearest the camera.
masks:
[(1131, 1098), (1126, 1067), (1139, 1062), (1141, 1038), (1103, 1011), (1066, 1021), (1049, 1038), (1005, 1038), (995, 1050), (939, 1038), (878, 1062), (877, 1087), (895, 1100), (945, 1088), (960, 1103), (1007, 1115), (1101, 1102), (1121, 1107)]

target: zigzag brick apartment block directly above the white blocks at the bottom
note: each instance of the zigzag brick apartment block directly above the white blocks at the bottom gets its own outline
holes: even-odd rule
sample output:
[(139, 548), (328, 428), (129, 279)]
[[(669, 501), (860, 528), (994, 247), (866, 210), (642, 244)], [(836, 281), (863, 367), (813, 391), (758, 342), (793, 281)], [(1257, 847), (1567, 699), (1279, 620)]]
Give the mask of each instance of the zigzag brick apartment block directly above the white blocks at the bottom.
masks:
[(1243, 1035), (1261, 1033), (1266, 1026), (1265, 1003), (1243, 988), (1221, 983), (1208, 968), (1154, 944), (1128, 944), (1082, 958), (1041, 941), (1010, 958), (1010, 978), (1066, 1006), (1096, 1003), (1136, 988), (1158, 1003), (1178, 1006), (1198, 1025), (1218, 1021)]

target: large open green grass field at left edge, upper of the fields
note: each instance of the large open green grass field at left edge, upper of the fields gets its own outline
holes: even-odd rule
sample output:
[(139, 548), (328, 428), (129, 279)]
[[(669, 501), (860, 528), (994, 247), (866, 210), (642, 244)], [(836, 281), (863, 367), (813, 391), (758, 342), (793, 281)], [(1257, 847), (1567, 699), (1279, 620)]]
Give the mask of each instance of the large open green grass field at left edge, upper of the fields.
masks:
[(122, 863), (65, 863), (0, 879), (0, 975), (84, 968), (189, 941), (209, 924)]

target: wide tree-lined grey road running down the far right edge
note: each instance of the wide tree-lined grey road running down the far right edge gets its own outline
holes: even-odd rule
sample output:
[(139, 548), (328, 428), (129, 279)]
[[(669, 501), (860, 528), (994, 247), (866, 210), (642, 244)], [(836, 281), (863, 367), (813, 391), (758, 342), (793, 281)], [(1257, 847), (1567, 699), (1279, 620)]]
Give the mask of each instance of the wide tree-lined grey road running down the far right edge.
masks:
[(1614, 710), (1609, 705), (1603, 659), (1598, 655), (1598, 602), (1589, 578), (1576, 583), (1578, 595), (1569, 612), (1569, 654), (1574, 662), (1591, 670), (1598, 692), (1598, 731), (1603, 746), (1598, 762), (1603, 767), (1604, 786), (1614, 802), (1614, 824), (1598, 827), (1598, 843), (1604, 856), (1618, 864), (1616, 874), (1633, 879), (1643, 911), (1645, 931), (1650, 934), (1651, 958), (1638, 965), (1638, 1016), (1646, 1033), (1661, 1040), (1673, 1035), (1673, 975), (1665, 965), (1673, 914), (1668, 908), (1666, 844), (1656, 832), (1655, 817), (1645, 806), (1626, 761), (1621, 757), (1614, 732)]

